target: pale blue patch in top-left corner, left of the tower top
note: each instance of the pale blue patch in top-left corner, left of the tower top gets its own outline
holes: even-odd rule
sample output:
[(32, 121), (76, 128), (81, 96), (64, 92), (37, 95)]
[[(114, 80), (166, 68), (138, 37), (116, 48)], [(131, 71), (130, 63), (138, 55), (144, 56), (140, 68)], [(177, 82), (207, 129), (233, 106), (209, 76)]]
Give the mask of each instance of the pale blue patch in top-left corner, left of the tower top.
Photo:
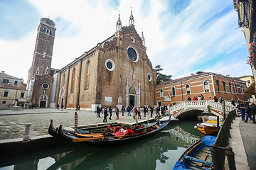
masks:
[(26, 0), (0, 1), (0, 38), (17, 40), (36, 29), (40, 13)]

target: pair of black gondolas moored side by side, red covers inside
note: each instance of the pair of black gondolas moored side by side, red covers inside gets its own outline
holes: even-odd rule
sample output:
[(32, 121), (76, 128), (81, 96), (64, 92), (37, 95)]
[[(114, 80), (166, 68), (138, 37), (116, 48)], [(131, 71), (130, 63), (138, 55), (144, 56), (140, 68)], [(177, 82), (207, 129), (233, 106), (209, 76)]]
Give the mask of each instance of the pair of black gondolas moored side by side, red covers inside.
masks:
[[(89, 132), (78, 132), (78, 130), (66, 130), (62, 125), (58, 128), (53, 128), (51, 121), (48, 129), (49, 134), (53, 137), (58, 137), (60, 140), (73, 143), (92, 145), (103, 147), (109, 145), (119, 145), (126, 142), (133, 142), (144, 137), (154, 135), (161, 132), (170, 120), (157, 120), (152, 123), (140, 124), (137, 126), (124, 127), (108, 125), (104, 130), (100, 129)], [(57, 133), (57, 135), (56, 135)]]

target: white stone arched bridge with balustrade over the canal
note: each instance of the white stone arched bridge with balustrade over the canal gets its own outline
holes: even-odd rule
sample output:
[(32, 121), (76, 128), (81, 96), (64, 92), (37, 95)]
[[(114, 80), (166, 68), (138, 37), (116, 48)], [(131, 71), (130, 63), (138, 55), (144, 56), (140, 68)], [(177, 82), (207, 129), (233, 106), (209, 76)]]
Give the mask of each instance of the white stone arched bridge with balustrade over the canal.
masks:
[[(225, 113), (227, 114), (236, 108), (231, 105), (230, 101), (223, 102), (225, 102)], [(220, 116), (220, 118), (223, 118), (223, 103), (218, 103), (214, 101), (183, 101), (174, 106), (171, 106), (170, 111), (175, 118), (181, 118), (188, 115), (191, 111), (201, 111), (202, 113), (208, 113), (208, 107), (210, 107), (210, 113), (213, 113), (214, 115), (218, 115)]]

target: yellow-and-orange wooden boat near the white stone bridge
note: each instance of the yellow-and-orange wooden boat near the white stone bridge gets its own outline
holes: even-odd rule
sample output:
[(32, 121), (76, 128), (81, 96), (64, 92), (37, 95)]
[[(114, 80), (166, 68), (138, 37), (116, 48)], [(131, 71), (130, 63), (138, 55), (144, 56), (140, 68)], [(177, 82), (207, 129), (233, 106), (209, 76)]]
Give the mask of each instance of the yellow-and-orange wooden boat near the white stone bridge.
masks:
[(222, 125), (222, 120), (219, 121), (219, 126), (217, 123), (217, 118), (215, 116), (210, 116), (208, 121), (205, 123), (198, 123), (195, 125), (195, 129), (200, 130), (203, 135), (217, 135), (220, 125)]

